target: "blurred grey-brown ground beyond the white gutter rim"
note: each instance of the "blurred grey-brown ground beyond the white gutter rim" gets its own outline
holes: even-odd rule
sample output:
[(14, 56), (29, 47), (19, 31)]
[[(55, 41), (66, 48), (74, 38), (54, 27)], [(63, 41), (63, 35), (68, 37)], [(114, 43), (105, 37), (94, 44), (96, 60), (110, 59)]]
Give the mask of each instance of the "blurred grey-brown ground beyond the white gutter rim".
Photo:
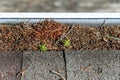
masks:
[(0, 0), (0, 12), (120, 12), (120, 0)]

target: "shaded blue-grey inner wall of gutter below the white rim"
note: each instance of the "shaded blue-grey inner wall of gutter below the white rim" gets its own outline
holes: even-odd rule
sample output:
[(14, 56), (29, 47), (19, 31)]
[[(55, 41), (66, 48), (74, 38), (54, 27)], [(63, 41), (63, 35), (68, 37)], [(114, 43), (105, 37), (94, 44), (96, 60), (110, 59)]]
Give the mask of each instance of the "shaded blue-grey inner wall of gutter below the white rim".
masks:
[[(2, 23), (19, 23), (19, 22), (39, 22), (46, 18), (0, 18)], [(120, 25), (120, 18), (48, 18), (56, 22), (74, 25), (101, 25), (105, 21), (105, 25)]]

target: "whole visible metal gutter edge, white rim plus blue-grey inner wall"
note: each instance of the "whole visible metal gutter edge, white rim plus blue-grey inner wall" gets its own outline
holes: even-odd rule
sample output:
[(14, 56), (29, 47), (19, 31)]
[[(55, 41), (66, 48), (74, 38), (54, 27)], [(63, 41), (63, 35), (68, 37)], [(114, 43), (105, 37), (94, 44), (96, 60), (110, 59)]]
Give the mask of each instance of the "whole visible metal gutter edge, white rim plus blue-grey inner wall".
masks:
[(0, 23), (16, 23), (21, 21), (38, 22), (52, 19), (61, 23), (99, 25), (105, 20), (106, 25), (119, 25), (120, 13), (0, 13)]

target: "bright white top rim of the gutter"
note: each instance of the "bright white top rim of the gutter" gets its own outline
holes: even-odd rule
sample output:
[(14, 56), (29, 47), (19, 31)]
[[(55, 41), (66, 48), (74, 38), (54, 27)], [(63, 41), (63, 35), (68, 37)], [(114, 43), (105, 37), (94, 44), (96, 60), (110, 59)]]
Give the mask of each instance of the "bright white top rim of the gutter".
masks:
[(0, 18), (120, 18), (120, 13), (0, 12)]

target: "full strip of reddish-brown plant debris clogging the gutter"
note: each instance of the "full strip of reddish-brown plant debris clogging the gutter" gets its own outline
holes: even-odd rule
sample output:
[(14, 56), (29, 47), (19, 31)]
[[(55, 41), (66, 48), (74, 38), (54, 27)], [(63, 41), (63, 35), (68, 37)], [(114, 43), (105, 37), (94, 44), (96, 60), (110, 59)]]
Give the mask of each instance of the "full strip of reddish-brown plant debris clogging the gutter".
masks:
[[(66, 38), (71, 42), (69, 47), (62, 43)], [(120, 26), (91, 27), (53, 20), (0, 26), (0, 51), (36, 51), (40, 44), (48, 50), (119, 50)]]

